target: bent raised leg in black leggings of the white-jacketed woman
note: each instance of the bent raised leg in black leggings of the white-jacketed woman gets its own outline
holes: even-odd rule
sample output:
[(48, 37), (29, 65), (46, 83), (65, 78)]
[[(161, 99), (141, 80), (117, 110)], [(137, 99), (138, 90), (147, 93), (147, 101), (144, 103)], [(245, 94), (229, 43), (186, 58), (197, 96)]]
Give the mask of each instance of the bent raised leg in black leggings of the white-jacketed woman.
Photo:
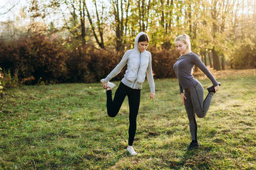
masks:
[(129, 87), (121, 82), (118, 89), (116, 89), (114, 100), (112, 100), (112, 90), (107, 90), (107, 110), (109, 117), (115, 117), (117, 115), (127, 95), (127, 88)]

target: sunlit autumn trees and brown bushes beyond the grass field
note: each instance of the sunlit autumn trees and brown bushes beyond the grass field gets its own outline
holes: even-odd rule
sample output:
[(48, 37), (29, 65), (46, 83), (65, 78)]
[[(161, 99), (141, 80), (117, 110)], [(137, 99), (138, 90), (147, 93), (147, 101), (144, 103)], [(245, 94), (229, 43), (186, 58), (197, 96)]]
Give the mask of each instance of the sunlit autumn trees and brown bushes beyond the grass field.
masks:
[[(0, 16), (17, 4), (7, 5)], [(140, 31), (150, 37), (155, 78), (175, 76), (173, 40), (183, 33), (213, 69), (255, 68), (255, 27), (253, 0), (27, 0), (15, 19), (0, 22), (0, 82), (7, 89), (99, 81)]]

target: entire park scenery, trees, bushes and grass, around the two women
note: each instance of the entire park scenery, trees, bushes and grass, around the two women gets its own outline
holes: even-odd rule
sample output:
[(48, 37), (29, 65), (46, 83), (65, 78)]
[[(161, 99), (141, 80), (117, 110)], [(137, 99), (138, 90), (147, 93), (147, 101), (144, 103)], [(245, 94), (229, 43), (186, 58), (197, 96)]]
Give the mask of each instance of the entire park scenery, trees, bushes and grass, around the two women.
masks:
[[(255, 8), (255, 0), (1, 0), (0, 169), (256, 169)], [(156, 97), (144, 83), (132, 157), (128, 101), (108, 117), (99, 80), (140, 31), (150, 37)], [(191, 151), (173, 78), (173, 40), (184, 33), (221, 82), (196, 118), (200, 146)]]

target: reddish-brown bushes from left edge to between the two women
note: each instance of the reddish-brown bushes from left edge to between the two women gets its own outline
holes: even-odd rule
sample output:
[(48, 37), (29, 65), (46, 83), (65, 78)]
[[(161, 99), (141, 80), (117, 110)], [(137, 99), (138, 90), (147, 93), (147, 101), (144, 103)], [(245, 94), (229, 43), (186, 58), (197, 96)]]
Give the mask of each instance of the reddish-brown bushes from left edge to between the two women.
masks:
[[(10, 78), (17, 74), (19, 82), (25, 84), (88, 83), (106, 77), (124, 55), (124, 52), (93, 46), (70, 47), (64, 41), (42, 34), (0, 41), (0, 67), (8, 71)], [(179, 55), (175, 50), (148, 50), (152, 53), (156, 78), (175, 76), (173, 64)], [(124, 76), (125, 67), (113, 80)]]

